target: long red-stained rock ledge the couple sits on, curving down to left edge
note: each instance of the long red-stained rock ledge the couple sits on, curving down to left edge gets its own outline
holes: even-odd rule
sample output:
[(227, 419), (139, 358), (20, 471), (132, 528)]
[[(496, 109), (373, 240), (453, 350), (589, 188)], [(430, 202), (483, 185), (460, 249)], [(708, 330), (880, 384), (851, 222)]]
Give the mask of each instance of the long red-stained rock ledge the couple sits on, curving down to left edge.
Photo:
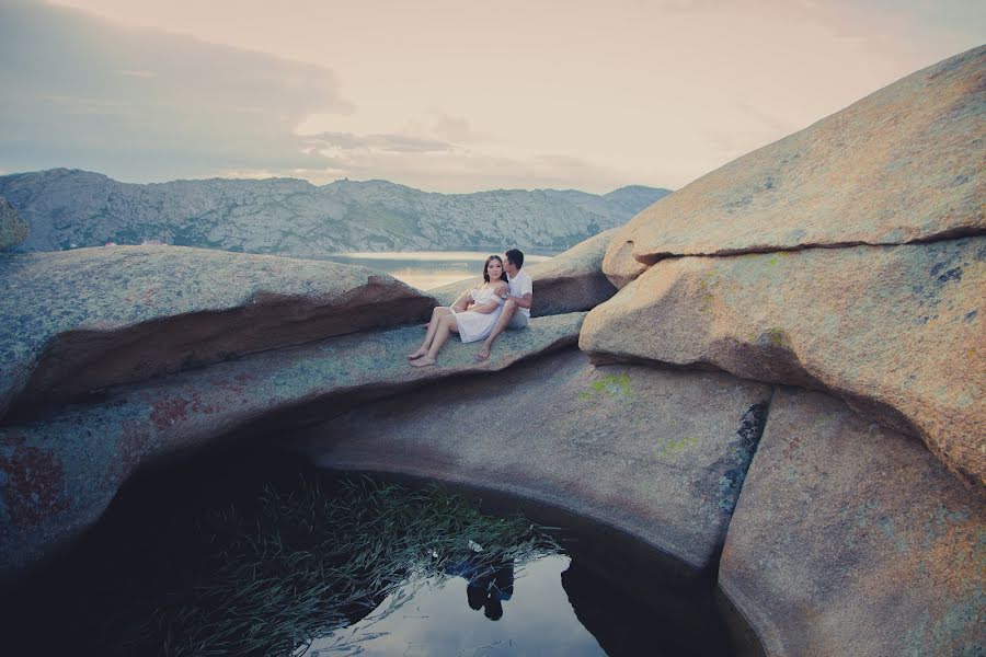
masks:
[(574, 346), (584, 316), (540, 318), (507, 331), (482, 365), (474, 362), (477, 345), (450, 341), (438, 367), (411, 367), (405, 354), (424, 331), (406, 326), (253, 354), (111, 391), (44, 420), (2, 426), (0, 575), (95, 521), (142, 462), (233, 431), (239, 439), (263, 429), (278, 435), (360, 401)]

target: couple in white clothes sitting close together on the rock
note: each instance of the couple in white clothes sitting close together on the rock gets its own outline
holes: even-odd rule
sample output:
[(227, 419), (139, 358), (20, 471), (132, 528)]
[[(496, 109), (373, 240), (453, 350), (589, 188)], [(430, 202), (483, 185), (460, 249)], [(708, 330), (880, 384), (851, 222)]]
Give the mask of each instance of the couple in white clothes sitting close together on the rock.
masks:
[[(462, 342), (485, 338), (477, 354), (477, 361), (490, 357), (490, 349), (504, 328), (524, 328), (530, 319), (531, 281), (524, 266), (524, 254), (511, 249), (491, 255), (483, 265), (484, 283), (468, 290), (449, 308), (439, 306), (432, 311), (432, 321), (421, 347), (408, 359), (414, 367), (435, 365), (438, 349), (449, 333), (458, 333)], [(504, 260), (506, 262), (504, 262)]]

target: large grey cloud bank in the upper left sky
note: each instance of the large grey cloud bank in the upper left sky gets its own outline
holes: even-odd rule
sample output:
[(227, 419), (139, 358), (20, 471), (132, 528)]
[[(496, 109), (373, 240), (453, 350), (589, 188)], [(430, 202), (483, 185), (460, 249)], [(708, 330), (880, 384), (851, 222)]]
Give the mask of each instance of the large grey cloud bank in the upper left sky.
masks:
[(0, 0), (0, 168), (134, 182), (328, 168), (295, 129), (354, 110), (321, 66), (24, 0)]

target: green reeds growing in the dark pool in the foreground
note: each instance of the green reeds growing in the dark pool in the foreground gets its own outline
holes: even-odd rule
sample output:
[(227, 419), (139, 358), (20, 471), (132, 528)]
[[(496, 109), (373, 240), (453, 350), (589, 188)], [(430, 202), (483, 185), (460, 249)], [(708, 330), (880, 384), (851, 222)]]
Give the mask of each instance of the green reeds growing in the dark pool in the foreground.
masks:
[[(130, 646), (164, 657), (302, 655), (312, 639), (349, 625), (408, 583), (492, 572), (558, 551), (521, 516), (495, 518), (437, 485), (413, 489), (367, 477), (331, 492), (302, 479), (266, 486), (259, 504), (213, 509), (205, 581), (158, 607)], [(393, 612), (410, 599), (394, 595)], [(342, 646), (340, 646), (341, 648)]]

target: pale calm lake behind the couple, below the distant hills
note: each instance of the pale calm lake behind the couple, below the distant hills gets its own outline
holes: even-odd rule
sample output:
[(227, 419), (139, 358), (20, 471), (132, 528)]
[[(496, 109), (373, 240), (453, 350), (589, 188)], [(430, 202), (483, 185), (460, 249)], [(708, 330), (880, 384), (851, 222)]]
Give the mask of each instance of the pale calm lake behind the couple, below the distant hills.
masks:
[[(390, 274), (420, 290), (431, 290), (457, 280), (479, 276), (483, 263), (494, 255), (485, 251), (406, 251), (333, 253), (325, 260), (347, 265), (362, 265)], [(501, 257), (503, 254), (496, 254)], [(551, 260), (557, 253), (525, 253), (524, 264)]]

